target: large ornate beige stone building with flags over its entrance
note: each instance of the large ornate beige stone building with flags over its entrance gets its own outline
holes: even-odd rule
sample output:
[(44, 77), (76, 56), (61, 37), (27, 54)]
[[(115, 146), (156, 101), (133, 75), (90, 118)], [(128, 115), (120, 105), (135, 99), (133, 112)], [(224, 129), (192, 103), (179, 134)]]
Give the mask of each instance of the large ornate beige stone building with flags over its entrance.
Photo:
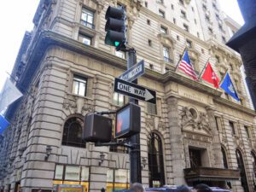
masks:
[[(145, 61), (138, 84), (157, 96), (156, 105), (139, 101), (143, 184), (253, 191), (255, 112), (214, 0), (41, 0), (12, 72), (24, 96), (5, 114), (12, 124), (0, 142), (1, 190), (129, 187), (127, 148), (82, 140), (85, 114), (128, 102), (113, 91), (126, 55), (104, 44), (109, 5), (125, 7), (128, 44)], [(229, 70), (241, 100), (176, 70), (186, 47), (198, 75), (207, 61), (219, 78)]]

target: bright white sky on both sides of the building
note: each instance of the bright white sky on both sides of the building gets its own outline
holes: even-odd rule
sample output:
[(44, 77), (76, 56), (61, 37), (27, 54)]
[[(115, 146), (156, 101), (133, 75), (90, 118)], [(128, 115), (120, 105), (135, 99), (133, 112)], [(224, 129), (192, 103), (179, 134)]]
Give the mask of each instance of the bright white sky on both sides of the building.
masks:
[[(169, 1), (169, 0), (167, 0)], [(32, 31), (32, 19), (38, 8), (39, 0), (2, 1), (0, 6), (0, 90), (9, 77), (26, 31)], [(221, 9), (243, 24), (240, 9), (236, 0), (219, 0)]]

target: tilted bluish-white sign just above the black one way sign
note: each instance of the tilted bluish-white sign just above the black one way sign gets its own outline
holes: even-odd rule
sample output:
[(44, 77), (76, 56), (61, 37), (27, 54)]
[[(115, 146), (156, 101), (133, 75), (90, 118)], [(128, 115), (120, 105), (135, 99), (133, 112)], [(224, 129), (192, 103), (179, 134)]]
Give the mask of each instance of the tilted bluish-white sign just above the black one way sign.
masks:
[(143, 73), (145, 73), (144, 60), (139, 61), (136, 65), (127, 69), (125, 73), (119, 76), (119, 79), (131, 82), (143, 75)]

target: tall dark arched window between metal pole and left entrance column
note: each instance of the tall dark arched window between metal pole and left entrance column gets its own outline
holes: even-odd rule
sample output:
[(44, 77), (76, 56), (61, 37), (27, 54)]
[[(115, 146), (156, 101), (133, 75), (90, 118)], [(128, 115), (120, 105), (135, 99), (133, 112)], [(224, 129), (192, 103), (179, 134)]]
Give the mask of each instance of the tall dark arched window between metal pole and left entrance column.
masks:
[(160, 137), (152, 132), (148, 139), (148, 178), (149, 187), (159, 187), (165, 184), (163, 147)]

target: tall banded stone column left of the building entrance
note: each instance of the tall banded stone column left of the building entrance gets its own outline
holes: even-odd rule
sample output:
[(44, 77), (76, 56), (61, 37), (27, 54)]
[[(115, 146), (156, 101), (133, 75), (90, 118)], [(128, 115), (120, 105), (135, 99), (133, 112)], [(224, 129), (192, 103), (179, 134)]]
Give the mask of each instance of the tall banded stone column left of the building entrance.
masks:
[(183, 169), (186, 168), (183, 146), (183, 135), (179, 123), (179, 113), (177, 98), (170, 96), (167, 98), (168, 121), (170, 126), (170, 144), (172, 151), (172, 172), (174, 184), (185, 183)]

